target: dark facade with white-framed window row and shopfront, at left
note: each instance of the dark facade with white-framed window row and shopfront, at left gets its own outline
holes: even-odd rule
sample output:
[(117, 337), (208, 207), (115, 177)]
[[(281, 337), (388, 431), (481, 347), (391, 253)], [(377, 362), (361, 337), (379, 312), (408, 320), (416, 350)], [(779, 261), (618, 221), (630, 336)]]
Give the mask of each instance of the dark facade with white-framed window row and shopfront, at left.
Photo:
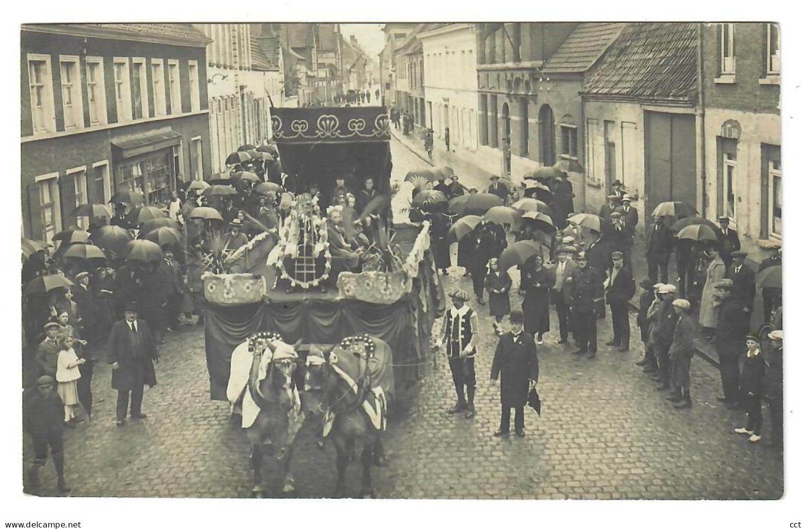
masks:
[(164, 205), (211, 167), (210, 42), (189, 24), (31, 24), (21, 35), (23, 234), (50, 241), (77, 205)]

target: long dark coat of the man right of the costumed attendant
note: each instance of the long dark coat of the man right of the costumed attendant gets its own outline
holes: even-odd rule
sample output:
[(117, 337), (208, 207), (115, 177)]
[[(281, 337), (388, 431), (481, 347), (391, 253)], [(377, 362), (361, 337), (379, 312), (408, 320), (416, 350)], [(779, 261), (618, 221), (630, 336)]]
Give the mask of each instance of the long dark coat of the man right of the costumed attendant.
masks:
[(501, 374), (501, 405), (521, 407), (529, 396), (529, 381), (537, 382), (539, 374), (538, 350), (529, 333), (521, 333), (517, 340), (513, 333), (505, 333), (498, 341), (492, 357), (490, 378)]

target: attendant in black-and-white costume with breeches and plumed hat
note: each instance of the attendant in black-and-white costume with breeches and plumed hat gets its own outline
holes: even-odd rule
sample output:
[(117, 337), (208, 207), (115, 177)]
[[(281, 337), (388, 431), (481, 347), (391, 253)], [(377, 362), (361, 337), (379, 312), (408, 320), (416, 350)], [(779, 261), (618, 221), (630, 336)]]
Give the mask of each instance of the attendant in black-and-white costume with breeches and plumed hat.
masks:
[[(442, 320), (442, 343), (447, 347), (448, 365), (456, 390), (456, 405), (448, 413), (465, 411), (465, 418), (476, 416), (473, 399), (476, 396), (476, 341), (479, 316), (467, 305), (467, 292), (457, 288), (450, 294), (453, 307)], [(467, 387), (467, 399), (465, 388)]]

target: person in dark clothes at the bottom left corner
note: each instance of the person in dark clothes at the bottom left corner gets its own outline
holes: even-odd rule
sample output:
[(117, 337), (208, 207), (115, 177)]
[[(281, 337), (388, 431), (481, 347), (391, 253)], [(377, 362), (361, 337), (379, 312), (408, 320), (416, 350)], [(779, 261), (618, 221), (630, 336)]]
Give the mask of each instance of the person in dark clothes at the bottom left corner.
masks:
[(56, 467), (57, 486), (61, 492), (70, 492), (64, 479), (64, 403), (53, 389), (53, 378), (44, 375), (36, 380), (36, 387), (23, 393), (23, 430), (31, 436), (34, 445), (33, 465), (28, 469), (28, 482), (32, 488), (40, 486), (39, 468), (48, 461), (48, 447)]

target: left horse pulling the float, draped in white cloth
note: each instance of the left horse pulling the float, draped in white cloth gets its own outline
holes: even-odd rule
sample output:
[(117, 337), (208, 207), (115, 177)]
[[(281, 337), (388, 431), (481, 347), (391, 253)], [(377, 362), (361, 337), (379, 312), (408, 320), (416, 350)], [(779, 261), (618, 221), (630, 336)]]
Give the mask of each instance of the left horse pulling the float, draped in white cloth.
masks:
[[(281, 341), (253, 337), (249, 344), (251, 367), (247, 388), (242, 396), (244, 417), (254, 417), (254, 406), (259, 408), (254, 422), (244, 426), (251, 444), (251, 468), (255, 477), (252, 493), (257, 498), (261, 498), (264, 493), (264, 449), (269, 455), (276, 454), (284, 472), (283, 492), (291, 493), (294, 490), (294, 478), (290, 472), (293, 440), (304, 418), (293, 382), (299, 342), (288, 345)], [(234, 360), (236, 352), (233, 353)], [(265, 376), (261, 376), (263, 373)]]

